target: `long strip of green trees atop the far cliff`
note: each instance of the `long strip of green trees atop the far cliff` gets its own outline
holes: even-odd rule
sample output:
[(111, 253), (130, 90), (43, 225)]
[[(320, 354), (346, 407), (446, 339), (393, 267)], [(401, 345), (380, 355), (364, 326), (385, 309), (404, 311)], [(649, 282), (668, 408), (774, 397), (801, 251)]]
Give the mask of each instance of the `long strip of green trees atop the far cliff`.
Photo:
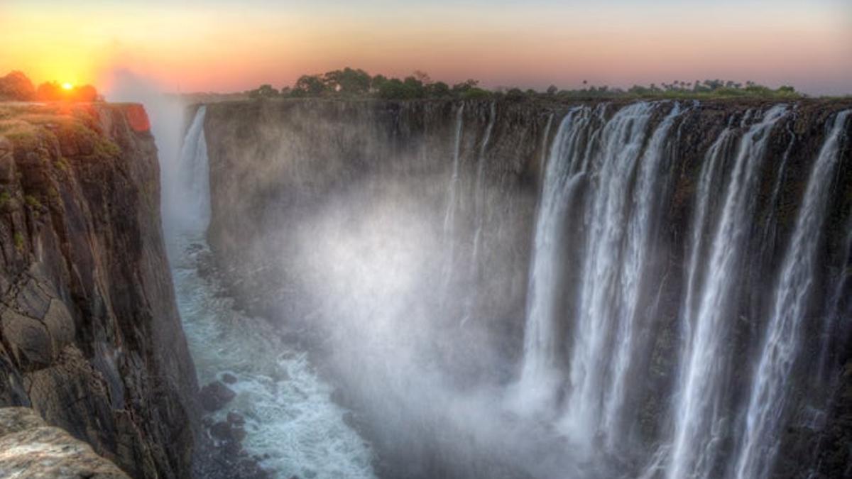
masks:
[(455, 98), (475, 100), (487, 98), (505, 98), (510, 101), (528, 99), (590, 100), (590, 99), (711, 99), (711, 98), (769, 98), (796, 99), (803, 95), (792, 86), (778, 89), (746, 82), (695, 80), (684, 82), (676, 80), (671, 84), (634, 85), (630, 89), (604, 86), (587, 86), (583, 82), (581, 89), (559, 89), (550, 85), (544, 92), (534, 89), (484, 89), (479, 82), (469, 79), (450, 87), (440, 81), (432, 81), (424, 72), (413, 72), (405, 78), (387, 78), (384, 75), (371, 76), (361, 69), (343, 68), (316, 75), (302, 75), (296, 84), (278, 90), (271, 84), (263, 84), (257, 89), (246, 91), (250, 98), (382, 98), (384, 100), (416, 100), (423, 98)]

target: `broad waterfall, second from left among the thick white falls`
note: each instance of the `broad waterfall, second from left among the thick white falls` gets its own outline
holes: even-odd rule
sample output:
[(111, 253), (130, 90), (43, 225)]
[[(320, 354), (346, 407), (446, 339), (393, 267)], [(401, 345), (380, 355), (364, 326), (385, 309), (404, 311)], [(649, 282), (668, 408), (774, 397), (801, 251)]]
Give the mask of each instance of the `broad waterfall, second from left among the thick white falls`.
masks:
[[(596, 436), (604, 413), (612, 332), (620, 322), (615, 288), (630, 207), (630, 176), (642, 153), (651, 113), (653, 106), (644, 102), (621, 108), (603, 127), (602, 147), (590, 161), (594, 182), (584, 211), (589, 231), (565, 417), (570, 433), (578, 437)], [(602, 419), (611, 424), (610, 418)]]

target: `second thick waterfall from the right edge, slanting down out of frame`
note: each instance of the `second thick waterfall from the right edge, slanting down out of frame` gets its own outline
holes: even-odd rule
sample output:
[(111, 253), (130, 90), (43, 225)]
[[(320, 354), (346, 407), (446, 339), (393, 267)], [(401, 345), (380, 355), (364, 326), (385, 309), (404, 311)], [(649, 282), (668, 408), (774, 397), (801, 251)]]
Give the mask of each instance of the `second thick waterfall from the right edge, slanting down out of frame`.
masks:
[[(667, 473), (671, 479), (713, 475), (726, 419), (722, 395), (728, 372), (725, 347), (730, 326), (727, 312), (733, 299), (731, 278), (744, 248), (754, 203), (752, 192), (769, 132), (785, 114), (786, 107), (772, 107), (740, 139), (710, 245), (704, 284), (696, 291), (697, 310), (694, 315), (684, 315), (688, 324), (683, 329), (690, 332), (690, 336), (683, 338), (688, 346), (676, 386), (675, 433)], [(689, 310), (685, 308), (685, 312)]]

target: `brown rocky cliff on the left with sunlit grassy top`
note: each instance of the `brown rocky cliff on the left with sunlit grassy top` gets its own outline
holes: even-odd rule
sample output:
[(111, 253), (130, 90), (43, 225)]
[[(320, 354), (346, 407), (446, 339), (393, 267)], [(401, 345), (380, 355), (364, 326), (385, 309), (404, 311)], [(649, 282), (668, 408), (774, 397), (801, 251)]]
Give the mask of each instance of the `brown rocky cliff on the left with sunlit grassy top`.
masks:
[(197, 385), (142, 107), (0, 104), (0, 253), (0, 405), (188, 476)]

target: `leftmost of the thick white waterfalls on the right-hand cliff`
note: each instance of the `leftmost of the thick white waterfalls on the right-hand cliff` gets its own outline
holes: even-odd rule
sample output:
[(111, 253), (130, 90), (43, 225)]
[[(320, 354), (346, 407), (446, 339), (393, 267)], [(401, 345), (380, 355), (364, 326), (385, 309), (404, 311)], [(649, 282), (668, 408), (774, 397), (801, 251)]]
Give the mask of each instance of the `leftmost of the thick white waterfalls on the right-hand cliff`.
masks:
[(577, 161), (581, 132), (590, 124), (588, 109), (575, 109), (562, 118), (544, 169), (541, 199), (538, 205), (533, 265), (530, 268), (527, 290), (524, 356), (521, 366), (522, 407), (537, 409), (555, 399), (558, 387), (556, 351), (556, 301), (561, 266), (561, 231), (567, 210), (582, 177), (582, 172), (570, 173)]

